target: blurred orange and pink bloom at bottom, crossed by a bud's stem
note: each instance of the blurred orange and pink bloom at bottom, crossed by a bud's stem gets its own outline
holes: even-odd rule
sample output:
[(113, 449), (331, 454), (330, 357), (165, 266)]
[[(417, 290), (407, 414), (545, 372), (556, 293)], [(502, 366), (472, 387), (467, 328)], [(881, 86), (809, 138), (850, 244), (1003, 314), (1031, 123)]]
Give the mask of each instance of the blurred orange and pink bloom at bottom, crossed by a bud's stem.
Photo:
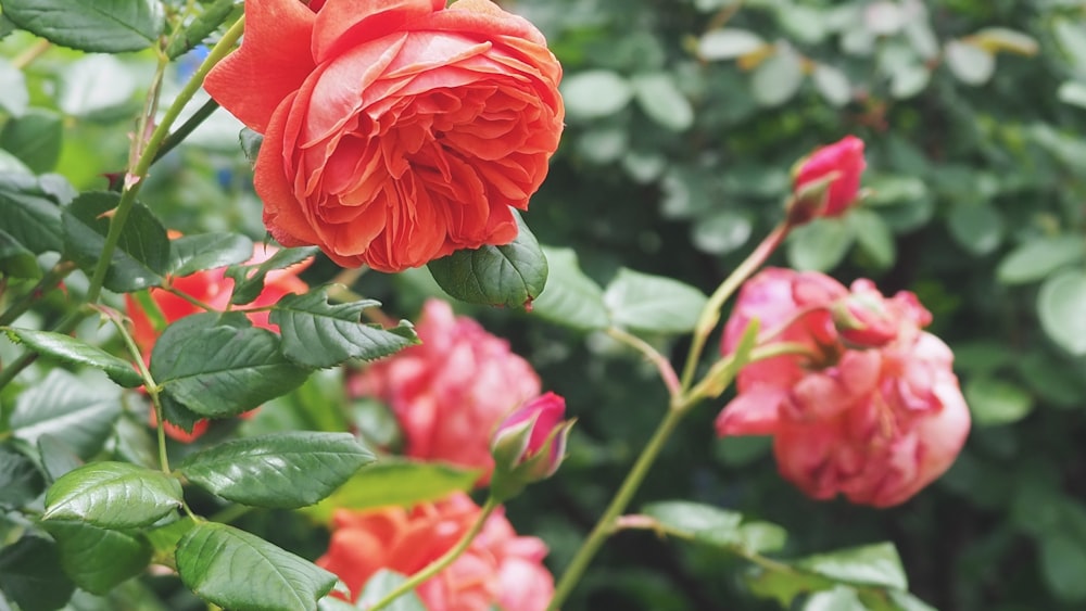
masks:
[[(358, 598), (366, 581), (388, 569), (411, 575), (452, 549), (479, 517), (479, 507), (457, 493), (411, 510), (339, 509), (328, 552), (317, 564), (336, 573)], [(429, 611), (543, 611), (554, 578), (543, 567), (546, 546), (517, 536), (498, 509), (467, 551), (416, 589)]]

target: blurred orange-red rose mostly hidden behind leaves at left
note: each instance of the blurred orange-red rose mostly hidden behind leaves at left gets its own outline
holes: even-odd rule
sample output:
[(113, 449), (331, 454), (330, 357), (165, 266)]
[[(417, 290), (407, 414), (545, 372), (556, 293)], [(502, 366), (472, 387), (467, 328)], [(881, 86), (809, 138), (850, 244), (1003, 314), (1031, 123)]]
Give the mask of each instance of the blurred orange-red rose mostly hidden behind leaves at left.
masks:
[[(256, 245), (253, 249), (253, 257), (245, 262), (245, 265), (260, 265), (272, 257), (278, 249), (275, 246)], [(313, 259), (306, 259), (287, 269), (274, 269), (264, 279), (264, 288), (261, 294), (247, 308), (260, 308), (270, 306), (278, 302), (283, 295), (301, 294), (308, 290), (304, 280), (298, 277)], [(180, 278), (167, 278), (167, 287), (177, 292), (185, 293), (192, 300), (216, 311), (226, 311), (230, 307), (230, 294), (233, 291), (233, 279), (226, 276), (226, 268), (206, 269)], [(199, 305), (178, 296), (165, 289), (151, 289), (149, 291), (151, 301), (159, 308), (162, 319), (166, 324), (175, 322), (186, 316), (205, 311)], [(161, 329), (155, 328), (151, 322), (151, 317), (144, 311), (143, 306), (135, 300), (131, 294), (125, 294), (125, 309), (128, 318), (132, 321), (132, 340), (143, 354), (147, 362), (151, 361), (151, 351), (154, 342), (159, 338)], [(268, 311), (251, 311), (245, 314), (254, 327), (277, 331), (275, 324), (268, 321)], [(151, 412), (151, 425), (156, 423), (154, 412)], [(207, 430), (207, 420), (199, 420), (192, 431), (185, 431), (169, 422), (165, 423), (166, 434), (171, 437), (191, 443)]]

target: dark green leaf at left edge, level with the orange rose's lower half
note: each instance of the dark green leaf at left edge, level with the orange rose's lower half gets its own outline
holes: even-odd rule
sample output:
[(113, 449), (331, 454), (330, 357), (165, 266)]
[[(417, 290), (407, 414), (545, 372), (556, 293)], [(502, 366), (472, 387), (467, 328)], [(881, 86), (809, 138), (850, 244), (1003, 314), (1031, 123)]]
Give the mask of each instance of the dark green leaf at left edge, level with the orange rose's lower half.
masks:
[(0, 174), (0, 218), (4, 232), (36, 254), (63, 247), (61, 208), (31, 177)]

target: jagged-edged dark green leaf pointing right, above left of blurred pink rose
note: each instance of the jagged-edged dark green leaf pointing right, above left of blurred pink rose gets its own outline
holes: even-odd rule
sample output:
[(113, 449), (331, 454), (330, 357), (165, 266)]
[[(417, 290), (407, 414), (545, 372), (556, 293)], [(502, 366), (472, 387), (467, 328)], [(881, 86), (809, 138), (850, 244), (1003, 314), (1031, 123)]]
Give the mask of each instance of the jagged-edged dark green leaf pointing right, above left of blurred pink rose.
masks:
[(381, 358), (419, 343), (406, 320), (392, 329), (364, 324), (362, 310), (380, 305), (374, 300), (332, 305), (328, 303), (328, 287), (320, 287), (302, 295), (285, 295), (269, 320), (279, 326), (287, 358), (302, 367), (321, 369), (352, 358)]

